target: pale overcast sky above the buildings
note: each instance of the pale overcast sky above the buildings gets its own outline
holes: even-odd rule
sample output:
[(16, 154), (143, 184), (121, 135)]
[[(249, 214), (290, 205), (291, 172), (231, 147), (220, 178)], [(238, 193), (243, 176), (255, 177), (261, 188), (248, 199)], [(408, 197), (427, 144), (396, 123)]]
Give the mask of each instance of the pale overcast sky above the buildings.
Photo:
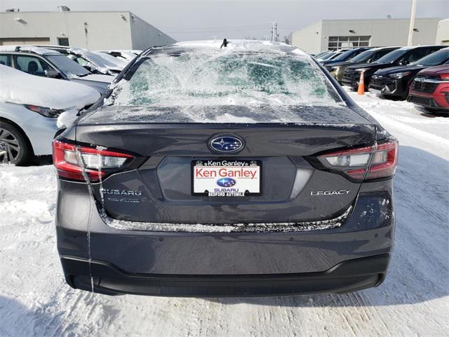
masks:
[[(284, 35), (321, 19), (409, 18), (412, 0), (0, 0), (0, 11), (131, 11), (174, 39), (221, 39)], [(449, 0), (417, 0), (417, 18), (449, 18)]]

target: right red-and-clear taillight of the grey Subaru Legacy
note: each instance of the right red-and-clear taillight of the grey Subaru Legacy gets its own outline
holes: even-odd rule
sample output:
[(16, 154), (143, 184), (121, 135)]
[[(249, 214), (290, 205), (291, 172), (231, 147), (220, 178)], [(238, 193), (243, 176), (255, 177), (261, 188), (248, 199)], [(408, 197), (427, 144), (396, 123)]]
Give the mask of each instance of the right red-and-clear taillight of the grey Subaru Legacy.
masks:
[(356, 180), (387, 178), (394, 175), (398, 164), (396, 140), (375, 146), (323, 154), (318, 157), (326, 169), (341, 171)]

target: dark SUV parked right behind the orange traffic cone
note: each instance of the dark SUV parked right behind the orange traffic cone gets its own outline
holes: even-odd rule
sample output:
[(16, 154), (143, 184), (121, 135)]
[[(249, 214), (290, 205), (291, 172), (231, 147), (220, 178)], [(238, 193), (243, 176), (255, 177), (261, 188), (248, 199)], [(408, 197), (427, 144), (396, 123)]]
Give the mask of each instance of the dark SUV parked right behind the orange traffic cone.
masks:
[(377, 70), (394, 67), (396, 65), (410, 65), (410, 63), (420, 60), (420, 58), (424, 58), (424, 56), (435, 51), (439, 51), (441, 48), (447, 48), (447, 46), (402, 47), (391, 51), (375, 62), (349, 65), (344, 70), (342, 84), (356, 90), (358, 88), (358, 81), (360, 81), (360, 74), (363, 72), (365, 85), (368, 88), (370, 79)]

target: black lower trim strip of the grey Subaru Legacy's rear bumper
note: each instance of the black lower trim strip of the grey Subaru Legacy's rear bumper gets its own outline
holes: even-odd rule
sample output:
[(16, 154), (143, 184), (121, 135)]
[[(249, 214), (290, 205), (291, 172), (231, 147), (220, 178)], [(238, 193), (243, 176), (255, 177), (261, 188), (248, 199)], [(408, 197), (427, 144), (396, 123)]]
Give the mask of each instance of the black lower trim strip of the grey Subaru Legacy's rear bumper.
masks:
[[(148, 275), (98, 260), (62, 256), (67, 283), (95, 293), (152, 296), (246, 297), (346, 293), (381, 284), (389, 254), (346, 260), (324, 272), (272, 275)], [(90, 274), (91, 273), (91, 274)], [(90, 275), (95, 275), (92, 279)]]

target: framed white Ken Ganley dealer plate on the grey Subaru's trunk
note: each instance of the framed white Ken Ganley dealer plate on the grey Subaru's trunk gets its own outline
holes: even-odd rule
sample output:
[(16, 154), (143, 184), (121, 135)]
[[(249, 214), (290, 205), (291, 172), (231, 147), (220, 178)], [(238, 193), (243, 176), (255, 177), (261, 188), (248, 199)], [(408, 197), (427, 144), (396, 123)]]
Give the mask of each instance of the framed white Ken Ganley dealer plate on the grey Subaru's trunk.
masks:
[(258, 160), (192, 161), (192, 194), (208, 197), (260, 195), (262, 163)]

